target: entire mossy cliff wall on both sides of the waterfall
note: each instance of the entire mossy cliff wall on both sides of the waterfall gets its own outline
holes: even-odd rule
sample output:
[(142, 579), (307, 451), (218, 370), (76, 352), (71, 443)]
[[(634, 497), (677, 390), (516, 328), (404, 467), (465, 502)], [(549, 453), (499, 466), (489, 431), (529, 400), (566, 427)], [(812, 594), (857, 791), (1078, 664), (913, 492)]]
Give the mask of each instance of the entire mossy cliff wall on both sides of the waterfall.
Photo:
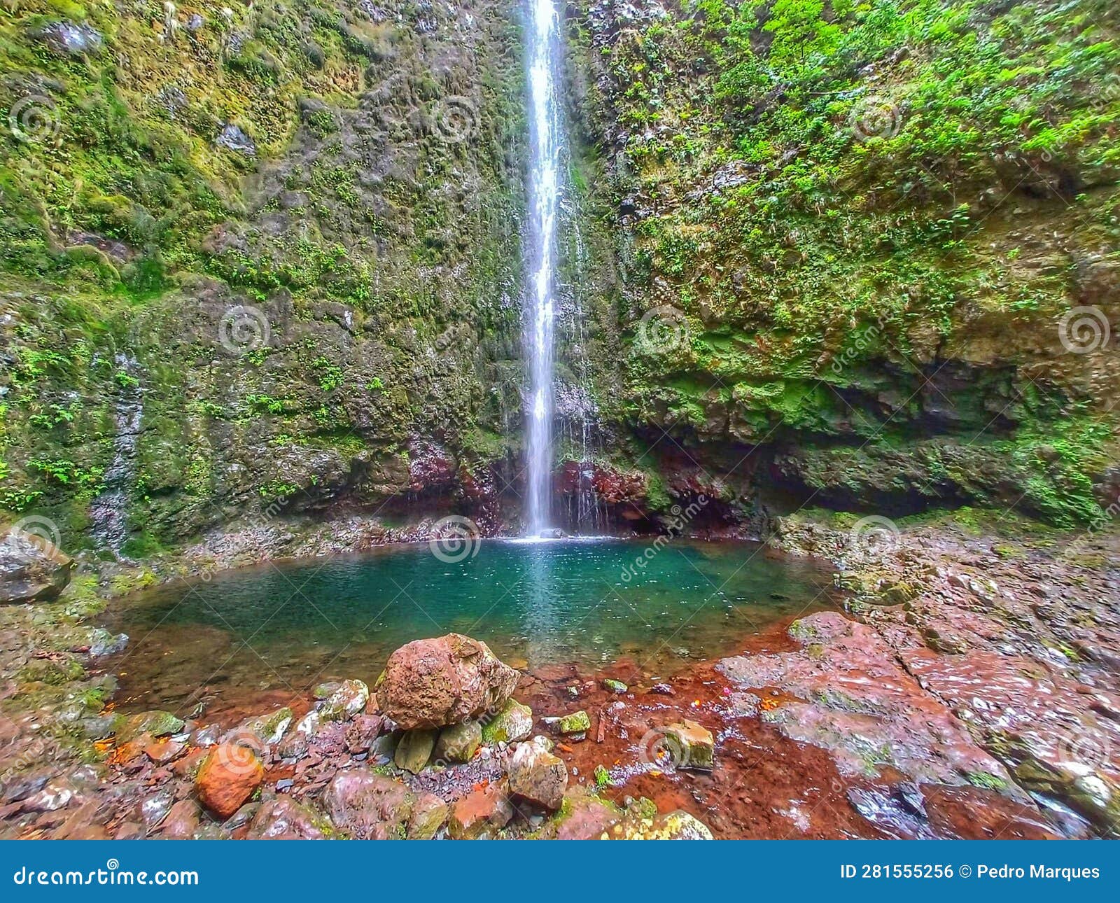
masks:
[[(515, 521), (520, 4), (11, 9), (0, 520), (132, 555), (261, 511)], [(1114, 4), (579, 0), (567, 30), (573, 519), (1100, 516)]]

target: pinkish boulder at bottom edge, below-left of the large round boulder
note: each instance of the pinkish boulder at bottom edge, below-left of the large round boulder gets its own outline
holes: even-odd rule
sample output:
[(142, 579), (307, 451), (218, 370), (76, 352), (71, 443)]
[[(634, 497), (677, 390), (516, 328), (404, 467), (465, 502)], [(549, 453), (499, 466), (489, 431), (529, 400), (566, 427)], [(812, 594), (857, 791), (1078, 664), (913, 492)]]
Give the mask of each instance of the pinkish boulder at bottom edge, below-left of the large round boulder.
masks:
[[(327, 814), (336, 827), (362, 840), (408, 837), (417, 797), (404, 784), (368, 769), (340, 771), (323, 794)], [(430, 807), (430, 801), (426, 801)], [(427, 826), (421, 813), (418, 827)]]

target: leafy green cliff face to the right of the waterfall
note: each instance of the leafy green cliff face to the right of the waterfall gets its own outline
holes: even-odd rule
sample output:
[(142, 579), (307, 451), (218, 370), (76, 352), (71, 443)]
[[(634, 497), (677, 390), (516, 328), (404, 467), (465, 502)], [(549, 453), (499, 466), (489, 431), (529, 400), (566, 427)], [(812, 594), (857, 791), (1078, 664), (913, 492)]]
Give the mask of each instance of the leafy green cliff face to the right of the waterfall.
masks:
[(1116, 4), (595, 0), (578, 20), (618, 469), (1060, 524), (1114, 499)]

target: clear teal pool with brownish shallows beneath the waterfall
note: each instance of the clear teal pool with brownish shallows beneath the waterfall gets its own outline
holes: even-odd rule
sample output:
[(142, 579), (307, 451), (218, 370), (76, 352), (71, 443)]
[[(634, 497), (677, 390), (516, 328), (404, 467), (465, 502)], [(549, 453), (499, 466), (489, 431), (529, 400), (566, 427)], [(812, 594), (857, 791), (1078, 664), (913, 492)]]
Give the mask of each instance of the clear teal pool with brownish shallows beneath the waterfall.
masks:
[[(651, 679), (743, 650), (745, 636), (833, 604), (829, 572), (754, 543), (486, 540), (228, 571), (122, 601), (110, 662), (125, 708), (185, 711), (317, 681), (376, 679), (400, 645), (455, 631), (517, 668), (594, 671), (629, 658)], [(645, 561), (637, 567), (636, 561)]]

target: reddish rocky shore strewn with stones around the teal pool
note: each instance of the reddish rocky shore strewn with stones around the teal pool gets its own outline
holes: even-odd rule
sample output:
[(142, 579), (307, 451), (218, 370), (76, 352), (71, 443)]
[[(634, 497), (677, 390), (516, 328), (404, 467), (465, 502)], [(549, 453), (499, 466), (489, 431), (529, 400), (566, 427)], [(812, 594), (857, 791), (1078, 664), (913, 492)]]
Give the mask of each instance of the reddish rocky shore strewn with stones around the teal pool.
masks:
[(0, 606), (0, 836), (1116, 836), (1117, 537), (859, 523), (772, 539), (836, 562), (844, 614), (671, 683), (494, 660), (458, 681), (489, 695), (444, 714), (391, 659), (372, 692), (122, 715), (99, 661), (124, 641), (90, 623), (113, 578), (80, 574)]

